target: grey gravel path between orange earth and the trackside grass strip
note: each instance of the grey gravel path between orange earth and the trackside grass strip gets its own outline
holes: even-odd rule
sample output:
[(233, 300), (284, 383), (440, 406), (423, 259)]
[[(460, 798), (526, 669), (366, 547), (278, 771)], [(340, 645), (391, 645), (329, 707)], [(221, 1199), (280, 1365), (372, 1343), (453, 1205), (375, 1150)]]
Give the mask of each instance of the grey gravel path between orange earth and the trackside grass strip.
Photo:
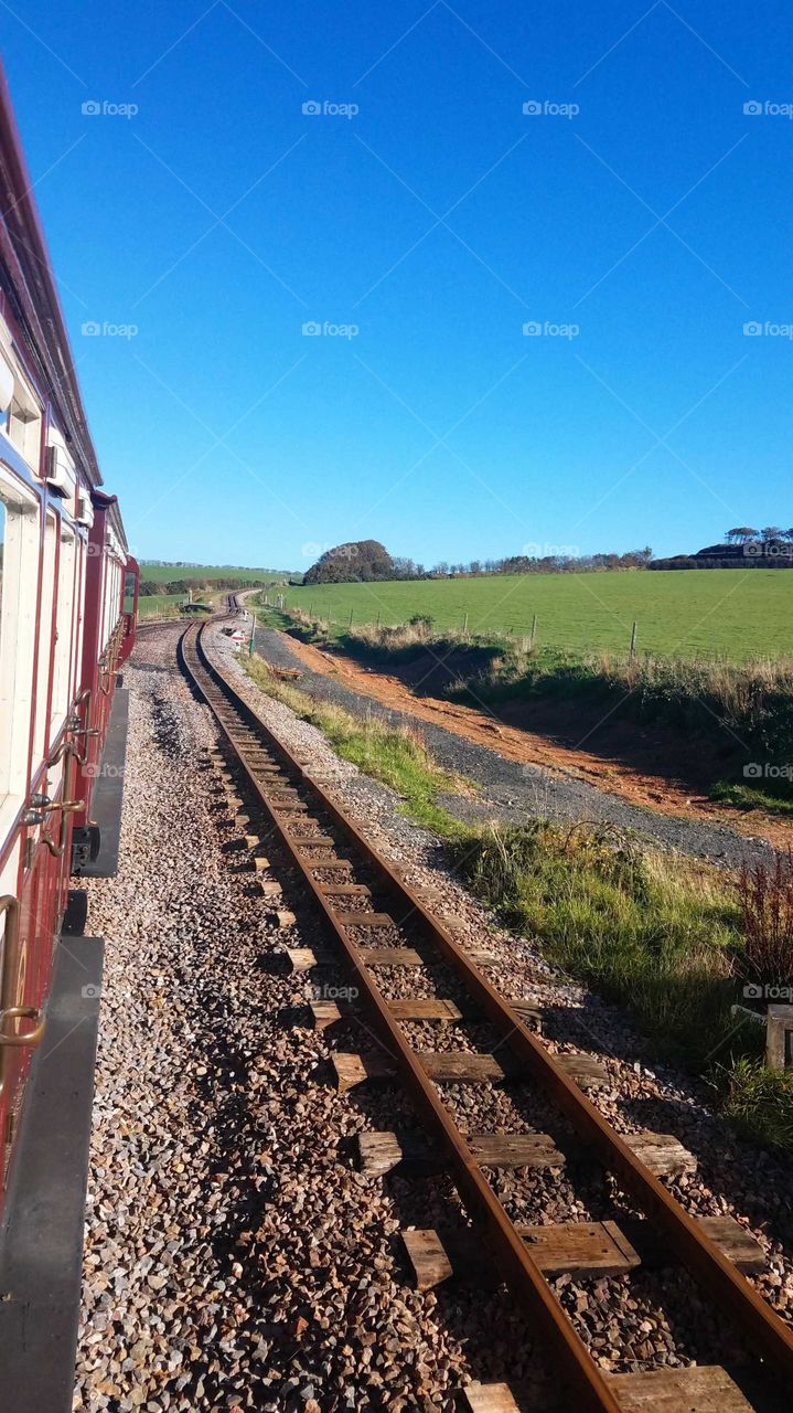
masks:
[(483, 794), (477, 800), (443, 796), (440, 803), (459, 820), (492, 820), (522, 822), (526, 817), (546, 820), (591, 820), (617, 824), (652, 839), (662, 848), (679, 849), (722, 868), (739, 868), (746, 859), (769, 859), (772, 848), (765, 839), (735, 834), (727, 825), (683, 820), (676, 815), (643, 810), (618, 796), (598, 790), (586, 780), (507, 760), (497, 750), (480, 746), (444, 726), (436, 726), (408, 712), (394, 711), (353, 688), (315, 673), (292, 651), (289, 637), (274, 629), (257, 626), (255, 649), (277, 667), (299, 667), (301, 680), (295, 685), (310, 697), (337, 702), (356, 716), (377, 716), (389, 725), (408, 725), (426, 742), (429, 750), (446, 770), (474, 780)]

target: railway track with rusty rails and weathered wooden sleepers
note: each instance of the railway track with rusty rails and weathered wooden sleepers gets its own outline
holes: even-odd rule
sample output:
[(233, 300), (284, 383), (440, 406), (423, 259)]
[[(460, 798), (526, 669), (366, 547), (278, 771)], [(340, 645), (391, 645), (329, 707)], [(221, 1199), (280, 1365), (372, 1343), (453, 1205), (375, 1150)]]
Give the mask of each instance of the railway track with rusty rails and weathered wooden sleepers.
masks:
[[(236, 606), (231, 599), (230, 608)], [(395, 1133), (363, 1135), (361, 1164), (380, 1173), (411, 1160), (425, 1169), (444, 1169), (476, 1229), (478, 1251), (444, 1246), (436, 1232), (405, 1234), (416, 1282), (428, 1287), (450, 1270), (471, 1263), (478, 1267), (483, 1251), (487, 1252), (488, 1263), (525, 1310), (533, 1335), (577, 1409), (741, 1413), (782, 1406), (775, 1386), (793, 1376), (793, 1332), (742, 1273), (758, 1269), (742, 1228), (737, 1222), (693, 1218), (684, 1211), (649, 1159), (642, 1160), (635, 1145), (587, 1098), (584, 1087), (597, 1081), (591, 1061), (550, 1053), (529, 1029), (525, 1003), (508, 1000), (488, 981), (483, 969), (487, 957), (454, 940), (449, 924), (433, 914), (426, 899), (373, 848), (322, 783), (306, 773), (308, 763), (272, 735), (209, 661), (202, 637), (203, 626), (190, 625), (185, 630), (181, 660), (214, 714), (222, 742), (219, 760), (233, 771), (229, 783), (241, 781), (253, 803), (251, 849), (255, 853), (267, 839), (278, 842), (322, 916), (336, 945), (336, 959), (354, 981), (356, 1005), (381, 1046), (373, 1054), (334, 1051), (337, 1085), (344, 1091), (367, 1080), (396, 1078), (423, 1122), (426, 1145), (420, 1145), (420, 1152), (406, 1152)], [(257, 872), (267, 870), (268, 861), (261, 855), (255, 863)], [(262, 886), (278, 893), (278, 885)], [(296, 969), (322, 961), (308, 950), (288, 955)], [(456, 1000), (443, 996), (389, 1000), (378, 983), (380, 968), (425, 968), (432, 975), (439, 964), (450, 968), (459, 983)], [(463, 1005), (460, 993), (466, 998)], [(343, 1019), (334, 1000), (315, 1002), (312, 1010), (322, 1027)], [(488, 1022), (497, 1033), (498, 1040), (487, 1054), (422, 1051), (411, 1040), (412, 1022), (454, 1027), (471, 1017)], [(443, 1099), (447, 1082), (505, 1078), (533, 1087), (564, 1116), (591, 1153), (591, 1161), (614, 1176), (631, 1204), (643, 1212), (643, 1221), (529, 1229), (509, 1218), (487, 1171), (547, 1164), (543, 1142), (549, 1140), (543, 1135), (466, 1133)], [(742, 1366), (735, 1379), (718, 1365), (604, 1372), (549, 1284), (550, 1276), (564, 1270), (576, 1277), (631, 1272), (653, 1249), (658, 1259), (659, 1246), (662, 1263), (687, 1267), (755, 1355), (753, 1365)], [(507, 1385), (480, 1385), (466, 1392), (474, 1413), (508, 1413), (518, 1406)]]

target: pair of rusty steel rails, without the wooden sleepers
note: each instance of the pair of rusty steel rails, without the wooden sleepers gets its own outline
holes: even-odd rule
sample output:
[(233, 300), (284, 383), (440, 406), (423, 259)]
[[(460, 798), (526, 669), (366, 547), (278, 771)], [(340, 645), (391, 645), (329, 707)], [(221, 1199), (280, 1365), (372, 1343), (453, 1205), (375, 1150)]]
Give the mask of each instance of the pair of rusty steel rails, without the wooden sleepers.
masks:
[[(193, 633), (192, 629), (198, 629), (198, 633)], [(203, 625), (200, 627), (192, 625), (181, 640), (181, 653), (182, 661), (193, 677), (198, 690), (209, 701), (209, 705), (213, 705), (210, 697), (206, 692), (206, 687), (199, 681), (202, 673), (209, 678), (210, 690), (217, 692), (223, 704), (236, 712), (244, 725), (253, 728), (260, 738), (264, 738), (265, 745), (285, 764), (286, 771), (292, 771), (301, 777), (306, 793), (313, 796), (322, 811), (330, 817), (343, 835), (347, 835), (356, 852), (367, 861), (387, 893), (404, 906), (402, 916), (394, 916), (395, 924), (398, 927), (405, 927), (406, 924), (418, 927), (423, 937), (437, 947), (444, 959), (454, 966), (470, 995), (481, 1005), (485, 1016), (497, 1027), (502, 1043), (509, 1047), (525, 1067), (525, 1071), (538, 1080), (545, 1091), (550, 1094), (562, 1112), (570, 1119), (577, 1133), (597, 1152), (603, 1166), (615, 1174), (624, 1190), (634, 1197), (648, 1218), (663, 1231), (670, 1249), (679, 1260), (700, 1280), (714, 1303), (727, 1308), (738, 1327), (756, 1341), (758, 1352), (768, 1359), (775, 1372), (787, 1378), (793, 1375), (793, 1332), (789, 1327), (775, 1314), (762, 1296), (749, 1286), (732, 1262), (701, 1232), (694, 1219), (689, 1217), (655, 1174), (634, 1154), (594, 1104), (581, 1092), (579, 1085), (555, 1061), (542, 1041), (528, 1030), (518, 1013), (474, 965), (463, 948), (459, 947), (439, 918), (429, 911), (409, 885), (368, 844), (357, 825), (325, 793), (322, 786), (305, 774), (299, 762), (295, 760), (291, 752), (261, 721), (258, 714), (207, 660), (200, 642), (202, 632)], [(189, 663), (188, 657), (192, 657), (193, 661)], [(198, 675), (195, 668), (198, 668)], [(346, 935), (344, 927), (336, 921), (322, 885), (317, 885), (312, 877), (310, 870), (316, 868), (316, 862), (312, 865), (295, 848), (295, 841), (284, 829), (277, 811), (271, 808), (254, 769), (244, 760), (231, 731), (222, 721), (216, 706), (213, 709), (226, 740), (247, 774), (253, 791), (277, 828), (284, 846), (303, 875), (343, 948), (370, 1002), (382, 1043), (398, 1063), (419, 1108), (442, 1135), (460, 1195), (471, 1218), (484, 1225), (488, 1232), (504, 1279), (531, 1310), (531, 1314), (535, 1318), (539, 1317), (542, 1334), (550, 1340), (557, 1354), (569, 1361), (566, 1365), (567, 1376), (576, 1386), (579, 1397), (583, 1399), (581, 1406), (587, 1409), (607, 1409), (615, 1413), (619, 1409), (619, 1403), (607, 1378), (597, 1368), (586, 1345), (570, 1325), (547, 1282), (532, 1260), (526, 1245), (509, 1222), (490, 1183), (483, 1177), (478, 1161), (471, 1154), (463, 1135), (446, 1111), (420, 1060), (406, 1041), (399, 1023), (391, 1015), (388, 1003), (380, 992), (368, 966), (363, 962), (358, 948)]]

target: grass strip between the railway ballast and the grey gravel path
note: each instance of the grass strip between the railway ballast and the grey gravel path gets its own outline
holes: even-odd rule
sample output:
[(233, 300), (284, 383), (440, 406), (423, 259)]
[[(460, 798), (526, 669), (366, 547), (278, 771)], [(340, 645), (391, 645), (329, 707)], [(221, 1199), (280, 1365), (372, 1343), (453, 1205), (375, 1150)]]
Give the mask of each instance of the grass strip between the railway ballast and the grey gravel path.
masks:
[(650, 1047), (714, 1085), (748, 1137), (793, 1150), (793, 1075), (762, 1065), (762, 1030), (730, 1012), (748, 974), (735, 886), (715, 869), (670, 859), (591, 828), (547, 822), (471, 828), (437, 803), (466, 788), (420, 739), (315, 702), (278, 681), (261, 658), (254, 681), (333, 749), (404, 798), (404, 812), (447, 839), (474, 894), (545, 955), (634, 1015)]

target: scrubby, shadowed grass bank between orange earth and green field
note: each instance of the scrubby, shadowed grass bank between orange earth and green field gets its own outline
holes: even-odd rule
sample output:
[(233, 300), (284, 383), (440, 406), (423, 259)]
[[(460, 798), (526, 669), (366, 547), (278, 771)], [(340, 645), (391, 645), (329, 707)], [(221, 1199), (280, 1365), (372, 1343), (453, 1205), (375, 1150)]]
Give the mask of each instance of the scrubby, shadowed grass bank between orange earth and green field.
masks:
[[(707, 577), (707, 572), (720, 571), (701, 572)], [(776, 574), (775, 584), (785, 581), (793, 588), (793, 575), (787, 581), (782, 571), (746, 571), (749, 578), (752, 572), (766, 572), (772, 579)], [(642, 578), (655, 579), (655, 575)], [(680, 572), (677, 578), (686, 575)], [(603, 582), (598, 577), (598, 588)], [(367, 589), (368, 585), (339, 588)], [(285, 613), (260, 608), (258, 613), (271, 626), (306, 642), (336, 644), (373, 666), (409, 666), (423, 658), (429, 666), (425, 690), (433, 695), (471, 705), (485, 702), (494, 708), (521, 701), (539, 706), (576, 702), (586, 714), (581, 721), (593, 726), (601, 721), (611, 725), (659, 722), (684, 739), (700, 738), (706, 749), (717, 740), (715, 800), (739, 810), (793, 814), (792, 657), (730, 661), (725, 657), (643, 653), (631, 658), (626, 653), (605, 650), (532, 647), (528, 637), (488, 637), (461, 630), (439, 633), (436, 623), (422, 615), (412, 623), (341, 627), (309, 617), (295, 606)], [(435, 673), (436, 663), (449, 664), (452, 671)], [(762, 777), (746, 776), (745, 766), (759, 767)]]

